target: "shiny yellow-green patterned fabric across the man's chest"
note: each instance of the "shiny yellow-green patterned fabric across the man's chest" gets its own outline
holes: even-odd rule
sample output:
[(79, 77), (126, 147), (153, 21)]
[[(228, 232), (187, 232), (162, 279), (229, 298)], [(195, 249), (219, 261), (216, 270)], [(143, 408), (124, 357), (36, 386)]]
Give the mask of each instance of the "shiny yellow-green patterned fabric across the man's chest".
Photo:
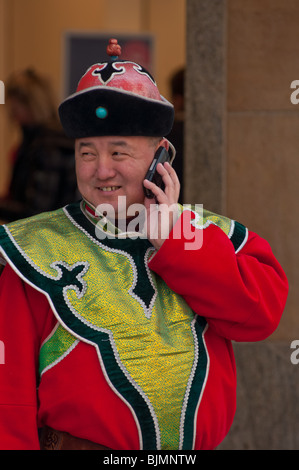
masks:
[(190, 389), (196, 386), (199, 336), (194, 313), (147, 268), (153, 252), (147, 240), (99, 242), (92, 225), (88, 231), (79, 222), (61, 210), (8, 229), (15, 256), (23, 259), (23, 275), (47, 292), (58, 318), (70, 318), (69, 331), (59, 325), (42, 346), (40, 372), (50, 371), (78, 340), (85, 340), (78, 329), (70, 332), (73, 322), (87, 328), (90, 337), (92, 332), (103, 334), (97, 346), (109, 367), (113, 355), (119, 377), (150, 410), (157, 447), (179, 448)]

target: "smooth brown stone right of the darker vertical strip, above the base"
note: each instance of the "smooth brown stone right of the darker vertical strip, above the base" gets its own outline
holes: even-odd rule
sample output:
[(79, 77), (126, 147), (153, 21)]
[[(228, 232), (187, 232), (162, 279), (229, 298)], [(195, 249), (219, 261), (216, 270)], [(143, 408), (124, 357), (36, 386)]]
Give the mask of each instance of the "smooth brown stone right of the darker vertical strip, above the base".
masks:
[(290, 294), (273, 336), (299, 338), (299, 2), (227, 2), (227, 213), (265, 237)]

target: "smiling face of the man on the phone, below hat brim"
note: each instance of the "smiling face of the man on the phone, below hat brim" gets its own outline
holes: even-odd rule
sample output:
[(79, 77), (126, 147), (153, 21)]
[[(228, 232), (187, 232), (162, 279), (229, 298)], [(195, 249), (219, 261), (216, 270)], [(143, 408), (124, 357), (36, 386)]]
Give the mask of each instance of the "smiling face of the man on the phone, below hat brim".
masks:
[(76, 173), (81, 195), (96, 208), (112, 205), (118, 214), (118, 198), (126, 208), (143, 204), (143, 180), (154, 158), (159, 139), (148, 137), (86, 137), (77, 139)]

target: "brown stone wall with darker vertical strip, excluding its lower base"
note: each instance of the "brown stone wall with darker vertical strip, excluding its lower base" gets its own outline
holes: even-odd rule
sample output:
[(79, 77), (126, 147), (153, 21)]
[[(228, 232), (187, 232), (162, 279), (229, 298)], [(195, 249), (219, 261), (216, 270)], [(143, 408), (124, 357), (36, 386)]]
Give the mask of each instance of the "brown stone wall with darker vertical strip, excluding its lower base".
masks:
[(271, 340), (299, 338), (297, 0), (187, 3), (186, 200), (266, 238), (289, 279)]

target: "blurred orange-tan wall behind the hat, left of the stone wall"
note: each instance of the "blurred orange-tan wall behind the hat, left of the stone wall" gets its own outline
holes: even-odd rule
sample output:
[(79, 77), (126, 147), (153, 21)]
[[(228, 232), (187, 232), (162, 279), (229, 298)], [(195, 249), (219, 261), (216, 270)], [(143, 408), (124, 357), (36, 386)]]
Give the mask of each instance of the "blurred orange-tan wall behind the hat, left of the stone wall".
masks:
[[(186, 0), (0, 0), (0, 79), (34, 66), (63, 91), (63, 37), (66, 31), (150, 33), (156, 44), (155, 78), (168, 96), (169, 75), (185, 63)], [(101, 59), (101, 58), (100, 58)], [(0, 107), (0, 192), (7, 176), (12, 130)], [(8, 128), (7, 128), (8, 126)]]

